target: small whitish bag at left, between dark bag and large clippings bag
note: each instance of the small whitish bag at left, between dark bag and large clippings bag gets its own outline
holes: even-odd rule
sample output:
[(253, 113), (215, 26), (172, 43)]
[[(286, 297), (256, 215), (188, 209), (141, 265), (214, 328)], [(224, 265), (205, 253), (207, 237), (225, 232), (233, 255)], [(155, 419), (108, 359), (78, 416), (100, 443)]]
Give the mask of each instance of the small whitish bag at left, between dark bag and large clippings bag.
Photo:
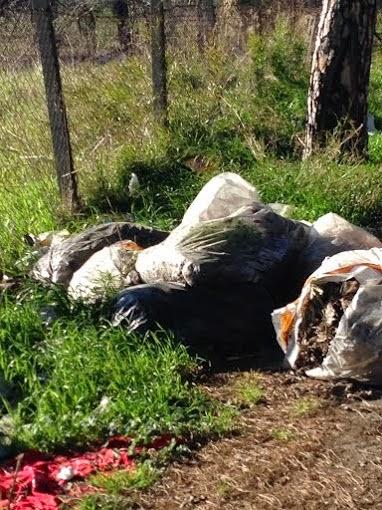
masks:
[(68, 294), (73, 299), (95, 302), (131, 285), (139, 246), (119, 241), (92, 255), (73, 275)]

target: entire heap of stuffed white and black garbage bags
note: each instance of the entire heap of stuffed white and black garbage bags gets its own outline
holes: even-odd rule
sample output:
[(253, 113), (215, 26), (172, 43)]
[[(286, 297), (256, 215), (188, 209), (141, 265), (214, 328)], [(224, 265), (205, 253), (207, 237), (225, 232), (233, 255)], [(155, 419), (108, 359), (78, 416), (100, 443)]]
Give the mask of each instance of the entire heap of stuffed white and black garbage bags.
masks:
[(377, 291), (365, 293), (359, 272), (345, 278), (346, 264), (343, 279), (324, 287), (320, 275), (357, 250), (376, 257), (382, 243), (333, 213), (313, 224), (285, 213), (290, 207), (263, 204), (251, 184), (227, 172), (204, 186), (172, 232), (127, 222), (92, 227), (55, 239), (31, 274), (89, 304), (115, 296), (112, 324), (130, 331), (159, 324), (226, 355), (265, 353), (280, 362), (284, 352), (289, 366), (314, 377), (367, 379), (350, 361), (344, 368), (338, 338), (350, 348), (355, 333), (342, 318)]

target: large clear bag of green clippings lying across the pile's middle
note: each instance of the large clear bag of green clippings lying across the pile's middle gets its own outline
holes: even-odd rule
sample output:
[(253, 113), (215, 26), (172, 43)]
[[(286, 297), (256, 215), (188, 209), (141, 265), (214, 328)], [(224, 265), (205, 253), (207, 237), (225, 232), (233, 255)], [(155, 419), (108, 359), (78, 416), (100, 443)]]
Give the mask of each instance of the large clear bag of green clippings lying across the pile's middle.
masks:
[(225, 218), (181, 224), (165, 241), (138, 253), (136, 270), (145, 283), (261, 282), (283, 301), (289, 289), (301, 289), (303, 281), (293, 281), (292, 268), (309, 230), (254, 204)]

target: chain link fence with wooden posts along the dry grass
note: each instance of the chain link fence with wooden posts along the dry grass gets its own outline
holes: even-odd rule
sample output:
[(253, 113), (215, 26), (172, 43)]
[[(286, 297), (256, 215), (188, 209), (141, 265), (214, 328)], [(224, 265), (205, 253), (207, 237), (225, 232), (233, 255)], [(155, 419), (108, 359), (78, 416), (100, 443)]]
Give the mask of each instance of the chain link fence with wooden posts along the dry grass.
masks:
[[(83, 188), (100, 175), (108, 179), (126, 141), (143, 143), (156, 124), (166, 124), (179, 94), (172, 80), (184, 62), (203, 66), (205, 52), (219, 45), (240, 58), (249, 34), (268, 30), (280, 12), (296, 24), (305, 17), (313, 33), (319, 6), (0, 0), (0, 171), (45, 179), (56, 169), (61, 196), (77, 174)], [(162, 118), (152, 115), (156, 97)], [(73, 189), (68, 196), (76, 200)]]

